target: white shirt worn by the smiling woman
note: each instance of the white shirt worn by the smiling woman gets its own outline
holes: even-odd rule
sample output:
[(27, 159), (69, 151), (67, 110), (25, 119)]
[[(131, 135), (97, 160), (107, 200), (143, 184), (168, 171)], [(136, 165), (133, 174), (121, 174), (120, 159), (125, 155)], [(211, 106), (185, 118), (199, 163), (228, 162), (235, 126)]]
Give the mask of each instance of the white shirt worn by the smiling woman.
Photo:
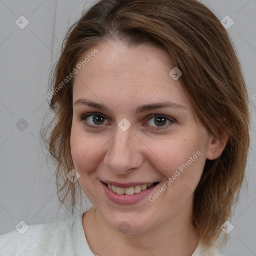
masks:
[[(100, 256), (100, 251), (94, 254), (88, 245), (82, 215), (30, 226), (21, 223), (17, 226), (19, 231), (15, 229), (0, 236), (0, 256)], [(199, 243), (191, 256), (221, 255), (215, 248), (207, 250)]]

